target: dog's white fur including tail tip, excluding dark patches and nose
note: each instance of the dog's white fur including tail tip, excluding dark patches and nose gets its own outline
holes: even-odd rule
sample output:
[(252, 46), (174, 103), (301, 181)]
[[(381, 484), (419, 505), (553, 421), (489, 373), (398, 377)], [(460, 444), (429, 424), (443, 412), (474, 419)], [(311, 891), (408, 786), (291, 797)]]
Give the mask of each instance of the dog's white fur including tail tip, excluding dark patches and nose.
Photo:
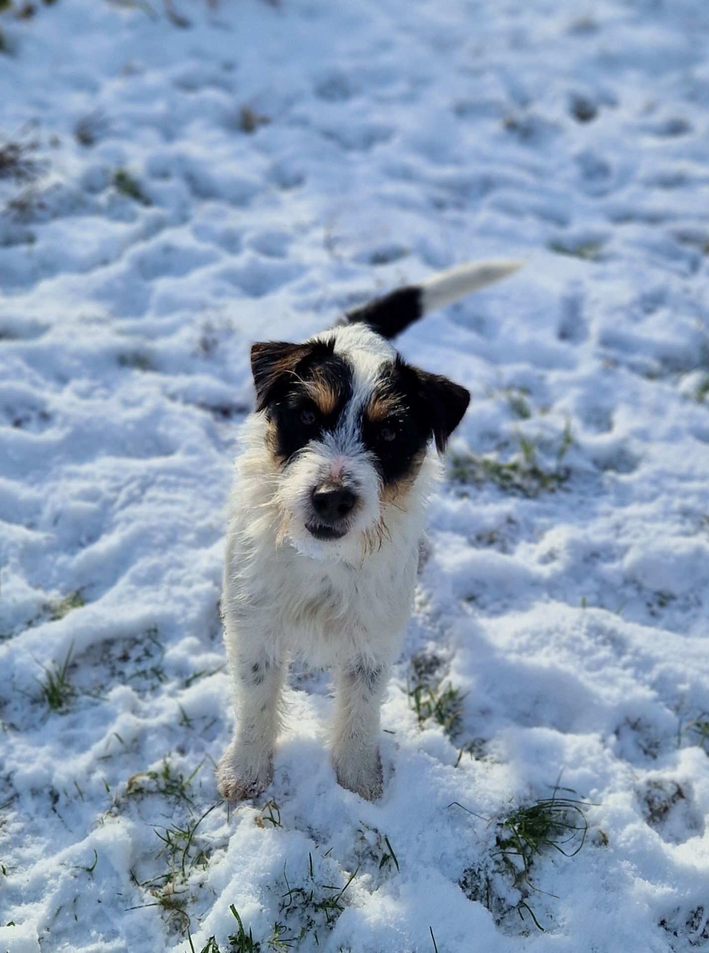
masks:
[[(424, 310), (512, 270), (495, 263), (439, 276), (423, 288)], [(334, 354), (354, 367), (354, 395), (334, 434), (279, 468), (267, 449), (267, 417), (256, 413), (236, 459), (222, 598), (236, 729), (217, 769), (219, 790), (232, 801), (257, 795), (273, 777), (281, 691), (294, 656), (334, 669), (337, 781), (367, 799), (381, 793), (379, 707), (411, 614), (426, 503), (441, 466), (429, 447), (403, 502), (381, 497), (354, 421), (395, 349), (362, 324), (313, 339), (333, 337)], [(343, 471), (361, 505), (344, 537), (317, 541), (305, 526), (311, 490)]]

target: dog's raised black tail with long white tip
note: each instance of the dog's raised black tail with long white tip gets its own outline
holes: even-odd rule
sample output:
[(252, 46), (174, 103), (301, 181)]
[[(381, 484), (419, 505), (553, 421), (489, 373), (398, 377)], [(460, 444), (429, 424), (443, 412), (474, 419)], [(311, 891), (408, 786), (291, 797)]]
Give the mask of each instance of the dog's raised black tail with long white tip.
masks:
[(438, 272), (418, 285), (397, 288), (391, 294), (345, 314), (345, 323), (361, 321), (382, 337), (392, 338), (419, 317), (476, 292), (479, 288), (517, 272), (523, 261), (498, 260), (468, 262), (447, 272)]

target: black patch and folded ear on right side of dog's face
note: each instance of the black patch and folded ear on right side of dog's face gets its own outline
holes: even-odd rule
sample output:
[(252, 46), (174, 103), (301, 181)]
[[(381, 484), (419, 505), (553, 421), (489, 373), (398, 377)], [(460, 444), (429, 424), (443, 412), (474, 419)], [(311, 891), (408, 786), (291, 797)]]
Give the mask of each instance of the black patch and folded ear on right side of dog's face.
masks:
[(415, 473), (429, 440), (442, 453), (466, 411), (470, 394), (447, 377), (429, 374), (397, 356), (377, 394), (391, 405), (387, 416), (362, 418), (362, 439), (385, 485)]

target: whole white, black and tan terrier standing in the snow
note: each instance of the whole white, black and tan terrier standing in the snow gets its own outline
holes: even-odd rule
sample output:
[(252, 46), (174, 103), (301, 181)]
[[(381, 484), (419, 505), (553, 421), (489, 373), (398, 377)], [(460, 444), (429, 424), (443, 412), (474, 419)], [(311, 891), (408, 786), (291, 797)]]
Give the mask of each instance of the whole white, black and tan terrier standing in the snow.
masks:
[(273, 778), (293, 657), (334, 669), (337, 781), (380, 796), (379, 707), (411, 615), (439, 455), (470, 400), (389, 340), (519, 264), (462, 265), (302, 344), (253, 345), (256, 405), (236, 459), (222, 595), (236, 726), (217, 780), (229, 801)]

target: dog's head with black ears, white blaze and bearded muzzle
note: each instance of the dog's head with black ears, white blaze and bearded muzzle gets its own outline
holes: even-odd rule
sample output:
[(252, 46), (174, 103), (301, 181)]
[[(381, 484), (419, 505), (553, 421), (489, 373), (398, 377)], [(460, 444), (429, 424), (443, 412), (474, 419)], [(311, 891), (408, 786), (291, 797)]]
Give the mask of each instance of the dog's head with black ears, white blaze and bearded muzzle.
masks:
[(319, 558), (381, 540), (387, 504), (407, 509), (429, 446), (443, 451), (470, 400), (361, 325), (254, 344), (252, 369), (285, 531)]

